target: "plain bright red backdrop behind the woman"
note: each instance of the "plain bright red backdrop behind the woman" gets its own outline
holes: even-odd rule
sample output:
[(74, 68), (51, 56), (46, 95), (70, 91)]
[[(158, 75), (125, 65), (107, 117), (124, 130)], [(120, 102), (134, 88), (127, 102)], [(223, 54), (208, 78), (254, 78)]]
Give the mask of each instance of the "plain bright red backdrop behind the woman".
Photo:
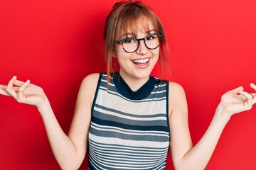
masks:
[[(114, 2), (1, 1), (0, 84), (16, 75), (43, 87), (68, 132), (80, 82), (105, 72), (102, 30)], [(256, 83), (256, 1), (144, 2), (164, 24), (172, 53), (169, 79), (186, 91), (196, 144), (220, 96), (237, 86), (252, 92), (249, 84)], [(231, 118), (206, 169), (255, 169), (255, 111)], [(59, 169), (35, 107), (0, 96), (0, 125), (0, 169)], [(167, 169), (173, 169), (171, 157)]]

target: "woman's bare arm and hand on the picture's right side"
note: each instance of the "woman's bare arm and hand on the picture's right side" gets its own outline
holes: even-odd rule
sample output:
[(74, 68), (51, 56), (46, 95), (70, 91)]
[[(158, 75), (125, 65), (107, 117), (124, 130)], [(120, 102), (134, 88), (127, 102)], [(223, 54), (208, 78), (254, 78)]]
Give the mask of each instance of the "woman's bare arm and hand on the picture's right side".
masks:
[[(250, 84), (256, 91), (255, 84)], [(247, 111), (256, 103), (256, 95), (238, 87), (221, 97), (206, 133), (193, 147), (188, 130), (186, 96), (181, 86), (169, 86), (169, 122), (171, 130), (171, 154), (176, 169), (205, 169), (230, 117)]]

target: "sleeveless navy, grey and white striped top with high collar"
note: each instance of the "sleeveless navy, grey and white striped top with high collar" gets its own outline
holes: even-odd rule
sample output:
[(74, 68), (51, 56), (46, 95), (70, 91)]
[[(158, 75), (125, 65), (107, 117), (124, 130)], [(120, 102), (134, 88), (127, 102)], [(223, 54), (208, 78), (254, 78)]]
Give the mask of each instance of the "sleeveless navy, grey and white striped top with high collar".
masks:
[(118, 72), (109, 86), (107, 74), (100, 74), (88, 137), (90, 170), (165, 169), (168, 89), (169, 81), (150, 77), (134, 92)]

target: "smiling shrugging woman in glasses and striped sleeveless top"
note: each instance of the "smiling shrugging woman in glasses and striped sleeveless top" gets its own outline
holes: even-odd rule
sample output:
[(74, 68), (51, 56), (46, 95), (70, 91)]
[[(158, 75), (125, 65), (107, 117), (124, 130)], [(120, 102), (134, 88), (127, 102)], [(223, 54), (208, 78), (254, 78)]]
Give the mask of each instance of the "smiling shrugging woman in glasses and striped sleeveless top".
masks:
[[(78, 169), (86, 152), (90, 169), (165, 169), (169, 147), (176, 169), (204, 169), (230, 117), (252, 108), (256, 95), (242, 87), (225, 93), (205, 135), (193, 146), (182, 87), (150, 76), (156, 62), (166, 60), (164, 36), (148, 6), (137, 1), (114, 5), (104, 34), (107, 73), (82, 81), (68, 135), (41, 87), (13, 77), (0, 86), (0, 94), (38, 108), (62, 169)], [(118, 72), (112, 72), (112, 57)]]

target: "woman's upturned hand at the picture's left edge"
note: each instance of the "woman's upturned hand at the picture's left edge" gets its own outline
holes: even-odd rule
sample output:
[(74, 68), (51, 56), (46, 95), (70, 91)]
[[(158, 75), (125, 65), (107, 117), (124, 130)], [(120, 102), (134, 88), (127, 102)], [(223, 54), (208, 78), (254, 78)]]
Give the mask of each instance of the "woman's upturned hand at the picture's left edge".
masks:
[(40, 107), (44, 102), (48, 101), (43, 89), (30, 81), (26, 82), (17, 80), (14, 76), (7, 86), (0, 85), (0, 94), (12, 96), (19, 103), (26, 103), (36, 107)]

